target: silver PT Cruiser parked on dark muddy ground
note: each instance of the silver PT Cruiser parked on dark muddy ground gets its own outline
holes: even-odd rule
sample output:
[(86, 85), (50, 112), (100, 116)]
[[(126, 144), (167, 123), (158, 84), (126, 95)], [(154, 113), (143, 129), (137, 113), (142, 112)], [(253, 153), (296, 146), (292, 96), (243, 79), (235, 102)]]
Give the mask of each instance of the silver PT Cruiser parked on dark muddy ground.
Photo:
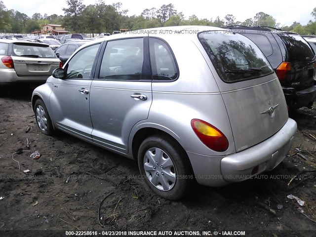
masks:
[(297, 125), (260, 49), (220, 28), (126, 32), (81, 46), (37, 87), (40, 131), (60, 129), (138, 161), (157, 195), (271, 170)]

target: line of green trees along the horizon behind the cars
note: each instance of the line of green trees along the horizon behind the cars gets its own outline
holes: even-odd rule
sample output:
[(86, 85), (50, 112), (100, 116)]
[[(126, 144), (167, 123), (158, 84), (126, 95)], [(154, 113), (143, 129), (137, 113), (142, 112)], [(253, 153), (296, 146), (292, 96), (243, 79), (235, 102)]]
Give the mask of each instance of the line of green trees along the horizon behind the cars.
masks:
[(280, 26), (276, 19), (264, 12), (258, 12), (253, 18), (243, 22), (236, 21), (232, 14), (227, 14), (223, 19), (219, 16), (210, 19), (200, 19), (196, 15), (185, 18), (182, 12), (178, 12), (173, 4), (163, 4), (160, 8), (152, 7), (144, 9), (140, 15), (128, 16), (128, 10), (122, 9), (122, 3), (112, 5), (103, 0), (97, 0), (94, 4), (84, 5), (82, 0), (66, 0), (67, 7), (62, 8), (64, 15), (41, 15), (35, 13), (31, 17), (14, 9), (6, 9), (0, 1), (0, 32), (2, 33), (32, 33), (39, 31), (41, 25), (58, 24), (67, 31), (76, 33), (113, 32), (119, 29), (139, 30), (162, 26), (180, 25), (205, 25), (205, 26), (270, 26), (284, 31), (292, 31), (301, 35), (316, 34), (316, 7), (312, 11), (314, 21), (307, 25), (301, 25), (294, 21), (291, 26)]

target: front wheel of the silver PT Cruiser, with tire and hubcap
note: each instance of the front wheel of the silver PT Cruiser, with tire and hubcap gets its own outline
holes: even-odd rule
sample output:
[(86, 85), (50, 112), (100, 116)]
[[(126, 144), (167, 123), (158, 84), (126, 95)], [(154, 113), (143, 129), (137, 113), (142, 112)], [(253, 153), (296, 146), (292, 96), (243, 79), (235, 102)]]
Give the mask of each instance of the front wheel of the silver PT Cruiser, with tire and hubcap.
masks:
[(52, 135), (54, 129), (44, 102), (41, 99), (38, 99), (35, 102), (34, 108), (36, 123), (38, 124), (40, 131), (45, 135)]

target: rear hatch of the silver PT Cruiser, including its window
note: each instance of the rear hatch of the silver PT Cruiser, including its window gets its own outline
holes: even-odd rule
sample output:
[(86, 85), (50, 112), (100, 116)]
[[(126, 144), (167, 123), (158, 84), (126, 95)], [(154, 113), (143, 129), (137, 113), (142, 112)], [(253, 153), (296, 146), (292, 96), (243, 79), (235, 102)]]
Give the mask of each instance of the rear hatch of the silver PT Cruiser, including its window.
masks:
[(213, 75), (239, 152), (274, 135), (288, 114), (280, 83), (260, 49), (242, 35), (225, 32), (208, 31), (198, 38), (217, 72)]

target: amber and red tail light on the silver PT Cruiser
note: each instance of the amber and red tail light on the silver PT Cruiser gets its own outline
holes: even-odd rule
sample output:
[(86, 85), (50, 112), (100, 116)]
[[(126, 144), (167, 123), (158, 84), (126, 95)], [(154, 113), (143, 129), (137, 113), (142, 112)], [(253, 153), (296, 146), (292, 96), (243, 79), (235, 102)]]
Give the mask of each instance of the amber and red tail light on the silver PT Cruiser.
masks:
[(196, 118), (191, 120), (191, 126), (197, 137), (208, 148), (216, 152), (224, 152), (228, 149), (229, 142), (218, 128)]

